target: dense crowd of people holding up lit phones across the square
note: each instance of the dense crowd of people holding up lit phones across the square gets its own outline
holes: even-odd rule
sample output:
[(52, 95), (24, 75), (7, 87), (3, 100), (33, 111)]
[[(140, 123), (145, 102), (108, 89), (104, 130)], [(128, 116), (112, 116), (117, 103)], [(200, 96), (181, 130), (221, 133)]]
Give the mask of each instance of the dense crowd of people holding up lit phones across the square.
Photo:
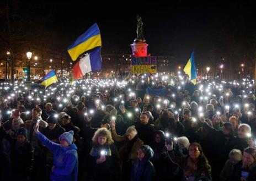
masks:
[(145, 74), (0, 94), (0, 180), (256, 180), (249, 80)]

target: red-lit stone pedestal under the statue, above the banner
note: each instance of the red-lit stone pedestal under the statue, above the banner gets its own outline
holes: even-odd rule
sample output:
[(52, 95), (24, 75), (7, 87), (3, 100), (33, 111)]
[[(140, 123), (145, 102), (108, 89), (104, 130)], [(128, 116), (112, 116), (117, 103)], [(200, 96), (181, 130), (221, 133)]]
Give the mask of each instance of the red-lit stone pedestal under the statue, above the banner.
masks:
[(131, 44), (132, 56), (147, 57), (147, 46), (146, 40), (135, 39)]

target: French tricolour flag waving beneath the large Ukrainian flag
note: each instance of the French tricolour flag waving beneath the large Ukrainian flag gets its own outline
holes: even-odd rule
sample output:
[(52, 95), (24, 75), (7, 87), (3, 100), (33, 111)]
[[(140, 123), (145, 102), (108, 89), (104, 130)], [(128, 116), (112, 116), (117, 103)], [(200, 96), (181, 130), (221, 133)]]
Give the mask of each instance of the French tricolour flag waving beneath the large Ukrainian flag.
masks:
[(73, 67), (74, 79), (79, 79), (86, 73), (102, 69), (101, 47), (96, 47), (87, 56), (81, 58)]

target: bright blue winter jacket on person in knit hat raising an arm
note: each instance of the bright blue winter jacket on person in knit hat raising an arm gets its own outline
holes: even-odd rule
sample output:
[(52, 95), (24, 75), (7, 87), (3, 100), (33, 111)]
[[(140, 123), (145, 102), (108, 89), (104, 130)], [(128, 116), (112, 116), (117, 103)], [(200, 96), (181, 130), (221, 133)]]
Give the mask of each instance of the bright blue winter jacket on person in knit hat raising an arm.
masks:
[(51, 172), (52, 181), (77, 181), (78, 160), (77, 146), (72, 144), (68, 147), (62, 147), (60, 144), (47, 139), (40, 132), (38, 139), (49, 150), (54, 152), (54, 172)]

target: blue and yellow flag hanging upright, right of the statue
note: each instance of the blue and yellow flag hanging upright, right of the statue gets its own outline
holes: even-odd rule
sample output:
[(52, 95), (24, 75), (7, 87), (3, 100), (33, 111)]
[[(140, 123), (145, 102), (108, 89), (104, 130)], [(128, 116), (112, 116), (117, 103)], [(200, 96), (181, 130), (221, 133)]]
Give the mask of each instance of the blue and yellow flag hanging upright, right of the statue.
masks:
[(195, 68), (195, 62), (194, 62), (194, 51), (191, 54), (191, 57), (189, 58), (188, 63), (186, 63), (186, 66), (184, 67), (184, 72), (188, 74), (191, 83), (196, 84), (196, 79), (198, 78), (198, 75), (196, 74), (196, 68)]

